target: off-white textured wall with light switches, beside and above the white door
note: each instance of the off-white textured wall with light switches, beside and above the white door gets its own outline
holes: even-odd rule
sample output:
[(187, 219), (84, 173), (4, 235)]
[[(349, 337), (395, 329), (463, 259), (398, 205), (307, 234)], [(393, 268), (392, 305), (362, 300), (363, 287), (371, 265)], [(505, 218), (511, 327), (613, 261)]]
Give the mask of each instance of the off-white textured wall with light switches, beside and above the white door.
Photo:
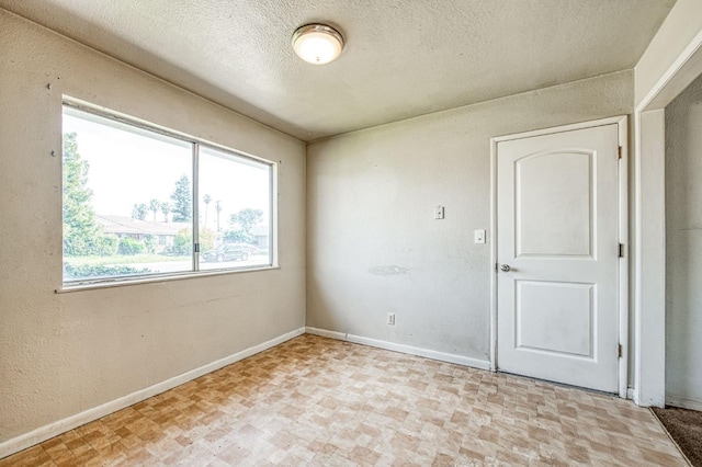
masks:
[(633, 101), (624, 71), (309, 145), (307, 326), (488, 360), (490, 137)]

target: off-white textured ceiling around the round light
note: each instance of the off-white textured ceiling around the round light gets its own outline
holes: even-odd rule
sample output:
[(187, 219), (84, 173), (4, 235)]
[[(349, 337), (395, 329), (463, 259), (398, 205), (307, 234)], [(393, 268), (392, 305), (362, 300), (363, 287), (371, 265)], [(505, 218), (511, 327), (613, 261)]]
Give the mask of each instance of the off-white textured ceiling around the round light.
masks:
[[(0, 0), (303, 140), (632, 68), (675, 0)], [(327, 22), (341, 57), (293, 31)]]

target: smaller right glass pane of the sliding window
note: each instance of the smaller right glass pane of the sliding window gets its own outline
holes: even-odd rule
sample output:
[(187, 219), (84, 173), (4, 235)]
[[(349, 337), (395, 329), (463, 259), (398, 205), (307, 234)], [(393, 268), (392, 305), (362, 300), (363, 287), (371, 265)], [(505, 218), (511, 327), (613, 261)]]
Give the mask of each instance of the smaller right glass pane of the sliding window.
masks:
[(271, 264), (271, 167), (200, 148), (200, 269)]

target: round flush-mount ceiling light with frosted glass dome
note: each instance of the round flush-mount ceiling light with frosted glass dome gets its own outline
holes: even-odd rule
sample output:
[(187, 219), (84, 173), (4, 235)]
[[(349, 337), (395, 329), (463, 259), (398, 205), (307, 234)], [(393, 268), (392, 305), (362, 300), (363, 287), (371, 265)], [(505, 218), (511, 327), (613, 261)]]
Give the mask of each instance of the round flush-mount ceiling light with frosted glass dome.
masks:
[(322, 65), (333, 61), (343, 49), (339, 31), (326, 24), (306, 24), (293, 33), (293, 48), (303, 60)]

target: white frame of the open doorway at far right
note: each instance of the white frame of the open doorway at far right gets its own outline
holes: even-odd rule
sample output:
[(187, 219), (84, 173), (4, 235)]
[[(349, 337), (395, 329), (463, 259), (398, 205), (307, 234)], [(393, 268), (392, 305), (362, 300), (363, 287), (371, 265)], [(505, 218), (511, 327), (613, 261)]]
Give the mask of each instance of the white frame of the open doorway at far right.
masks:
[(700, 76), (702, 31), (675, 57), (634, 110), (636, 262), (632, 298), (636, 345), (632, 372), (634, 402), (644, 407), (666, 403), (665, 109)]

